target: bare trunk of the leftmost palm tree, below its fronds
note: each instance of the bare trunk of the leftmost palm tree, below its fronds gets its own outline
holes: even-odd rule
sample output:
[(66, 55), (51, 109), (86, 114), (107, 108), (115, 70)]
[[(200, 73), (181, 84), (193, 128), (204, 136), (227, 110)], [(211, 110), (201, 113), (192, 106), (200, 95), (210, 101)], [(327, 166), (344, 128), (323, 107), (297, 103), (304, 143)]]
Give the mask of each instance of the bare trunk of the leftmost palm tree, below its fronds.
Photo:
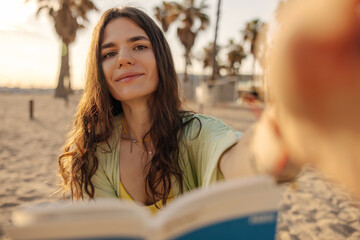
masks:
[(65, 87), (65, 79), (69, 81), (70, 87), (70, 67), (69, 67), (69, 44), (62, 42), (61, 66), (58, 85), (55, 90), (56, 98), (67, 99), (68, 89)]

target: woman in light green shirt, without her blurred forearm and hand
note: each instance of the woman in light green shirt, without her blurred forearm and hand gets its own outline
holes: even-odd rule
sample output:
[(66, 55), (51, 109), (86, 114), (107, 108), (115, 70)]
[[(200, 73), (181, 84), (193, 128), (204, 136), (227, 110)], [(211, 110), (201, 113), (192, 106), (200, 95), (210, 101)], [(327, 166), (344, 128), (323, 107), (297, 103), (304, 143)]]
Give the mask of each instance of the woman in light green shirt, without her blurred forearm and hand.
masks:
[(178, 92), (169, 46), (153, 20), (136, 8), (105, 12), (59, 158), (63, 189), (76, 199), (128, 198), (156, 209), (224, 176), (254, 174), (240, 134), (183, 111)]

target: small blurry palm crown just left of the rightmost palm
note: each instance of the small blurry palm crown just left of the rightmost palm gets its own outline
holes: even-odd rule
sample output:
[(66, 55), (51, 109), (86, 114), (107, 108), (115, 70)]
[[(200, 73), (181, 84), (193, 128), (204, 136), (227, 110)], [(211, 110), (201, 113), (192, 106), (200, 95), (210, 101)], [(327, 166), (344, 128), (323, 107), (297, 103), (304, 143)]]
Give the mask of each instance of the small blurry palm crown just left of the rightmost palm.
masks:
[(241, 44), (236, 44), (234, 40), (230, 39), (227, 46), (229, 49), (227, 53), (228, 58), (228, 74), (237, 75), (239, 74), (240, 66), (242, 61), (246, 58), (246, 53)]

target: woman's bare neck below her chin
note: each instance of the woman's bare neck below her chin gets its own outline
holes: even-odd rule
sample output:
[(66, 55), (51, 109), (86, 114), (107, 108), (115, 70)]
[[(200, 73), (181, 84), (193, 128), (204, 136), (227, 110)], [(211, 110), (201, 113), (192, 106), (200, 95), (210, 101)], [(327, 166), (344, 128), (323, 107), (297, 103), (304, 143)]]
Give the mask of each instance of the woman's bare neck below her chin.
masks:
[(150, 130), (152, 122), (150, 120), (150, 108), (147, 102), (144, 103), (122, 103), (124, 111), (123, 126), (128, 137), (140, 141)]

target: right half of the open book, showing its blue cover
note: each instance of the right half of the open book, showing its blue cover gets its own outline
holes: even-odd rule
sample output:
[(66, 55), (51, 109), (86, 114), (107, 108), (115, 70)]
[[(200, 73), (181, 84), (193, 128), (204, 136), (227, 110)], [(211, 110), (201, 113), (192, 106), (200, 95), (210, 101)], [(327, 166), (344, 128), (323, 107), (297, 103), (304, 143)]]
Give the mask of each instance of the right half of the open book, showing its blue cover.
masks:
[(157, 216), (162, 239), (274, 239), (280, 189), (256, 176), (195, 190)]

